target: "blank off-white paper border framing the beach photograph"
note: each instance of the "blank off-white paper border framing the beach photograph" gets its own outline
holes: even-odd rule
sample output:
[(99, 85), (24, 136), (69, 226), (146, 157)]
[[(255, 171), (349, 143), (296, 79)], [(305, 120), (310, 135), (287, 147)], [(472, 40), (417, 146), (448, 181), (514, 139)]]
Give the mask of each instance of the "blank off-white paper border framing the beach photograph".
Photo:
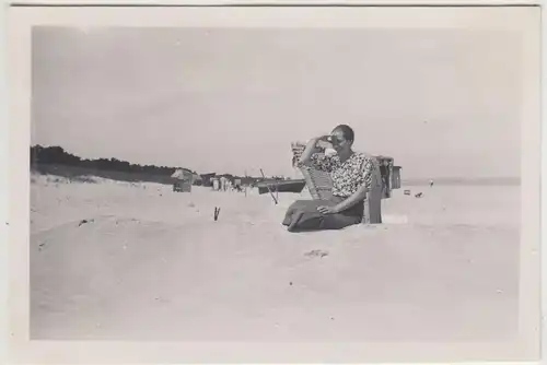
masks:
[[(8, 11), (10, 362), (395, 363), (536, 361), (539, 356), (540, 10), (538, 7), (15, 7)], [(519, 32), (522, 62), (520, 333), (514, 343), (166, 343), (28, 341), (31, 31), (91, 27), (371, 27)]]

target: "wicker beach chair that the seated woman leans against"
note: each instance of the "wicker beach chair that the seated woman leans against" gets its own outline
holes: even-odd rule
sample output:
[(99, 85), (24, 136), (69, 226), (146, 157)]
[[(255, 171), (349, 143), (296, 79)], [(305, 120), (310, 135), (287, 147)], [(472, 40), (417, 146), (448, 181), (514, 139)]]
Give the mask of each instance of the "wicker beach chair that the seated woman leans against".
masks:
[[(305, 144), (300, 142), (291, 143), (293, 154), (293, 167), (296, 166)], [(333, 180), (330, 175), (326, 172), (315, 169), (313, 167), (303, 166), (300, 168), (310, 195), (313, 199), (329, 199), (333, 197)], [(382, 223), (382, 178), (380, 174), (380, 166), (376, 164), (375, 174), (372, 179), (372, 189), (366, 193), (363, 201), (363, 220), (364, 224), (380, 224)]]

